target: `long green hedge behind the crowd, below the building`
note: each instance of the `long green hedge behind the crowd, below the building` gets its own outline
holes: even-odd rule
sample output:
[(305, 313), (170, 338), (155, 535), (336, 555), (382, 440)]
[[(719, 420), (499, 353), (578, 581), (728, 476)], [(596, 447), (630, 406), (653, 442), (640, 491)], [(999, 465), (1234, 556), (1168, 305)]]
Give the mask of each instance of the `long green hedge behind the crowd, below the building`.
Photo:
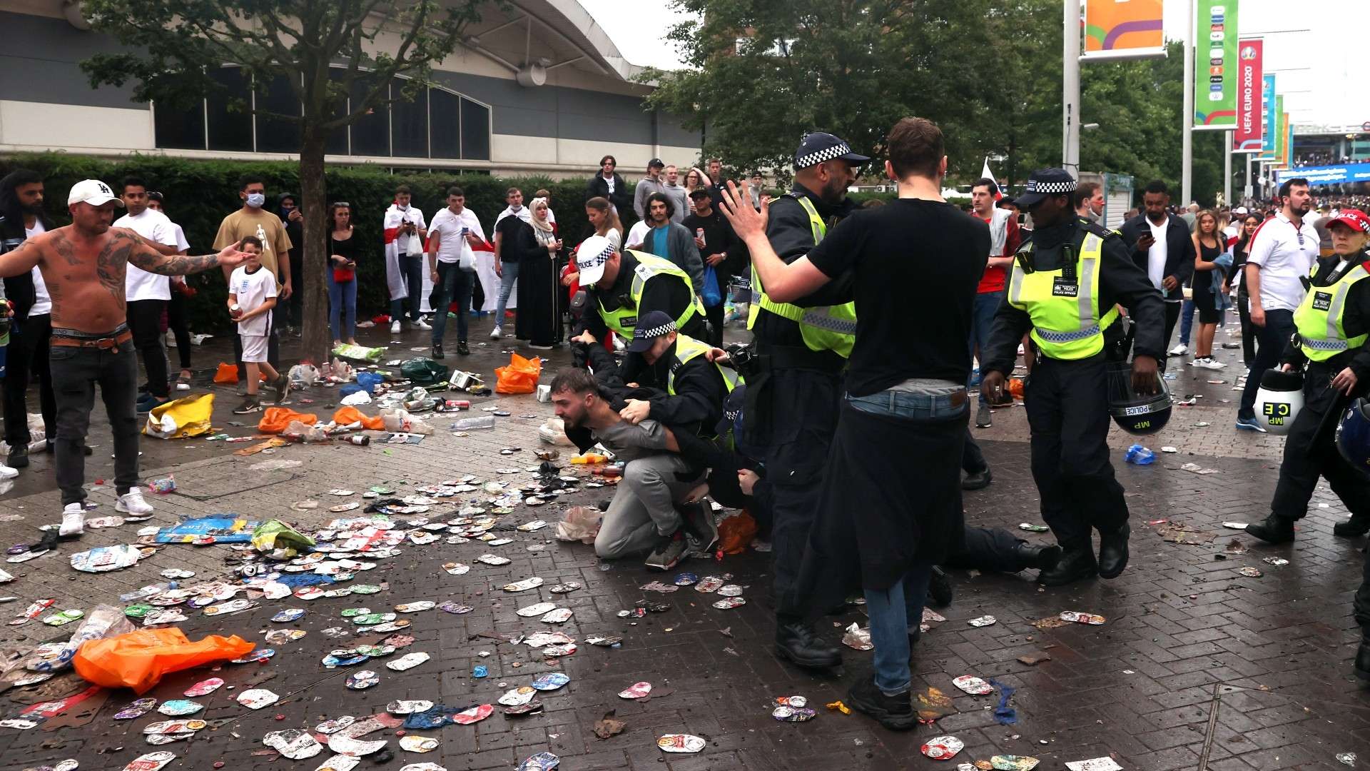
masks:
[[(148, 189), (162, 192), (166, 213), (185, 230), (192, 254), (212, 251), (214, 236), (223, 217), (242, 206), (238, 199), (238, 178), (256, 171), (266, 178), (267, 207), (277, 210), (275, 200), (282, 192), (300, 192), (299, 165), (293, 162), (241, 162), (241, 161), (189, 161), (158, 155), (129, 155), (118, 159), (68, 155), (63, 152), (26, 154), (0, 158), (0, 176), (14, 169), (32, 169), (42, 174), (45, 182), (45, 204), (48, 214), (66, 225), (66, 195), (73, 184), (95, 178), (103, 180), (119, 189), (127, 176), (147, 181)], [(504, 191), (516, 187), (526, 198), (533, 191), (547, 188), (552, 195), (552, 210), (558, 215), (558, 228), (569, 244), (577, 244), (590, 235), (585, 220), (585, 180), (553, 182), (548, 177), (500, 178), (489, 174), (453, 174), (447, 171), (390, 170), (375, 166), (329, 166), (329, 200), (345, 200), (352, 204), (356, 236), (360, 243), (371, 244), (358, 261), (358, 317), (370, 318), (386, 313), (389, 295), (385, 281), (385, 261), (382, 258), (381, 220), (385, 209), (400, 184), (414, 191), (414, 204), (423, 210), (432, 221), (433, 214), (445, 206), (447, 188), (459, 185), (466, 192), (466, 204), (481, 218), (488, 237), (493, 237), (495, 217), (504, 210)], [(632, 184), (632, 182), (630, 182)], [(636, 217), (626, 214), (625, 226), (632, 226)], [(306, 211), (308, 217), (310, 213)], [(326, 215), (326, 213), (325, 213)], [(222, 311), (226, 298), (223, 280), (216, 272), (189, 277), (189, 284), (199, 289), (190, 302), (190, 327), (197, 332), (223, 332), (229, 329), (227, 316)]]

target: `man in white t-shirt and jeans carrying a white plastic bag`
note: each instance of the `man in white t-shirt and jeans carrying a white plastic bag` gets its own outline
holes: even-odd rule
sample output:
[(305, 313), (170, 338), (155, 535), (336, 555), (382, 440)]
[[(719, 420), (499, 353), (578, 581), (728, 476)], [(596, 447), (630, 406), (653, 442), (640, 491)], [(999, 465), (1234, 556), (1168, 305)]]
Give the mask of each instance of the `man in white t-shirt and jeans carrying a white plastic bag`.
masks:
[(489, 251), (485, 230), (475, 213), (466, 207), (462, 188), (447, 188), (447, 209), (433, 215), (429, 226), (429, 272), (433, 278), (433, 358), (443, 358), (443, 333), (447, 331), (448, 300), (456, 300), (456, 353), (470, 355), (466, 347), (466, 311), (471, 306), (471, 280), (475, 277), (475, 250)]

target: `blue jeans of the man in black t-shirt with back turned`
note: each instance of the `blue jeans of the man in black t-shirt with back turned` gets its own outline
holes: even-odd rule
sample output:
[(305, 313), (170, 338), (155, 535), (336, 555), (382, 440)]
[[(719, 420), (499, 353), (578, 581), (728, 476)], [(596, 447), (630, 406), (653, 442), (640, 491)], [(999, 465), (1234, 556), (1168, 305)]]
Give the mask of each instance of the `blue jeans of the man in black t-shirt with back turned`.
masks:
[[(954, 405), (954, 401), (958, 401)], [(870, 414), (900, 420), (943, 423), (966, 420), (970, 399), (963, 394), (927, 395), (904, 391), (880, 391), (869, 396), (847, 395), (848, 403)], [(867, 589), (866, 613), (870, 616), (870, 641), (875, 645), (875, 687), (886, 694), (908, 690), (908, 634), (923, 619), (927, 579), (932, 562), (915, 562), (904, 578), (889, 589)]]

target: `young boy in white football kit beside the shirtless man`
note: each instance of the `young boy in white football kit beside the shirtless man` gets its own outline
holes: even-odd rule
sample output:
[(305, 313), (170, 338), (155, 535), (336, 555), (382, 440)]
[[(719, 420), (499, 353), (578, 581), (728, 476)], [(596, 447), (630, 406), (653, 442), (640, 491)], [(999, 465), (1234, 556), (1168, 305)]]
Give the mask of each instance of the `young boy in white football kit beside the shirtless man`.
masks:
[(262, 412), (258, 387), (262, 373), (275, 390), (275, 403), (284, 405), (290, 392), (290, 379), (275, 370), (266, 359), (267, 337), (271, 336), (271, 309), (275, 307), (275, 276), (262, 269), (262, 241), (255, 236), (242, 239), (238, 247), (249, 257), (233, 270), (229, 278), (229, 316), (238, 322), (242, 339), (242, 364), (248, 368), (248, 395), (233, 414)]

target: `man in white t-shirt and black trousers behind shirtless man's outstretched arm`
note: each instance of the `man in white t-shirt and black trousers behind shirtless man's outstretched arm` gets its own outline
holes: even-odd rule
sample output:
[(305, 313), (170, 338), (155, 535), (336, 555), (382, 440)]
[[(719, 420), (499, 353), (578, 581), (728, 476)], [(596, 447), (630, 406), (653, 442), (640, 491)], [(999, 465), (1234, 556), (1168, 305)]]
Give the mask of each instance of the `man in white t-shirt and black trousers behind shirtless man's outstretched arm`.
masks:
[[(148, 207), (148, 185), (138, 177), (125, 177), (123, 206), (127, 214), (114, 221), (114, 228), (127, 228), (142, 236), (166, 255), (179, 252), (175, 226), (160, 211)], [(129, 265), (123, 274), (123, 299), (129, 303), (129, 329), (133, 346), (148, 373), (148, 392), (138, 398), (138, 412), (145, 413), (167, 402), (171, 391), (167, 377), (167, 354), (162, 347), (162, 316), (171, 300), (171, 283), (166, 276), (148, 273)]]

